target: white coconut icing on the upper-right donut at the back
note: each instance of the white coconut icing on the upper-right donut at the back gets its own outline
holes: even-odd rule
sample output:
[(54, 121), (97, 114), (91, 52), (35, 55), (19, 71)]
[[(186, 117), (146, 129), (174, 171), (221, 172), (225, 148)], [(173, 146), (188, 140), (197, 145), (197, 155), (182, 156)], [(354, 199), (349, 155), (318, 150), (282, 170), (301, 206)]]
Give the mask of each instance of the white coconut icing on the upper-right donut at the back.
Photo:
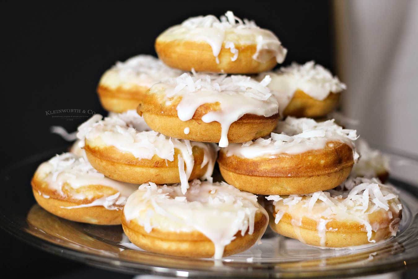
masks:
[(338, 93), (347, 88), (338, 77), (333, 77), (328, 69), (315, 64), (314, 61), (303, 65), (293, 62), (291, 66), (281, 67), (275, 72), (260, 74), (259, 79), (263, 79), (265, 75), (271, 76), (272, 81), (268, 87), (279, 103), (280, 115), (297, 90), (316, 100), (324, 100), (330, 92)]

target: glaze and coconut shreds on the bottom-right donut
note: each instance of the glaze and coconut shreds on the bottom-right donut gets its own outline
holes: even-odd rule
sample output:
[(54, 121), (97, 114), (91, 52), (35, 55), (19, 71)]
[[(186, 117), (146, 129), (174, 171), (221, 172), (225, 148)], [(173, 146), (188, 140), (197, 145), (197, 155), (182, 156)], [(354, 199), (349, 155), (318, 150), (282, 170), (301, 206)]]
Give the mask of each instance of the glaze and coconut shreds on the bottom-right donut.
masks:
[[(301, 223), (302, 218), (316, 220), (321, 246), (326, 241), (326, 223), (331, 220), (353, 221), (364, 225), (369, 242), (375, 242), (371, 239), (372, 231), (380, 228), (389, 227), (392, 235), (396, 235), (402, 210), (395, 188), (382, 184), (376, 178), (350, 178), (339, 187), (328, 191), (282, 197), (271, 195), (266, 199), (273, 200), (277, 211), (276, 224), (285, 213), (289, 213), (296, 220), (293, 223)], [(373, 218), (370, 218), (372, 214), (383, 217), (376, 218), (380, 222), (373, 222)]]

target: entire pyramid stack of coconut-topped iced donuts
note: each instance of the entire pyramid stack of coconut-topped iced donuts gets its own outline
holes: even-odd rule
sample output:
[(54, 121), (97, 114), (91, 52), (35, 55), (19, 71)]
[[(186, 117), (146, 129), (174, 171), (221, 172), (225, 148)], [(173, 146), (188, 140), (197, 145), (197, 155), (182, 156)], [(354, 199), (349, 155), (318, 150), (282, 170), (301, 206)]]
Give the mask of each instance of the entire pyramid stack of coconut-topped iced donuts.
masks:
[(386, 159), (326, 120), (346, 88), (327, 69), (272, 71), (287, 50), (231, 11), (168, 28), (155, 50), (158, 59), (138, 55), (103, 74), (97, 92), (110, 113), (38, 167), (41, 207), (122, 224), (138, 247), (185, 257), (245, 251), (268, 223), (329, 248), (396, 234), (402, 205), (383, 184)]

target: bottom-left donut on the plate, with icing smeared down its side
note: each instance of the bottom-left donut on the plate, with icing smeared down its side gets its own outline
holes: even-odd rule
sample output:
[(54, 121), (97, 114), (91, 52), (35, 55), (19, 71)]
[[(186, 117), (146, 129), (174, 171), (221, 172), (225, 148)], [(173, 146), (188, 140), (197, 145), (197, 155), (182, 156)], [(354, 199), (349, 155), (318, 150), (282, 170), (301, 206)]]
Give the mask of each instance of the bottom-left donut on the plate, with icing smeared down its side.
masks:
[(105, 177), (83, 157), (56, 155), (41, 164), (32, 178), (36, 202), (45, 210), (68, 220), (120, 224), (122, 207), (138, 185)]

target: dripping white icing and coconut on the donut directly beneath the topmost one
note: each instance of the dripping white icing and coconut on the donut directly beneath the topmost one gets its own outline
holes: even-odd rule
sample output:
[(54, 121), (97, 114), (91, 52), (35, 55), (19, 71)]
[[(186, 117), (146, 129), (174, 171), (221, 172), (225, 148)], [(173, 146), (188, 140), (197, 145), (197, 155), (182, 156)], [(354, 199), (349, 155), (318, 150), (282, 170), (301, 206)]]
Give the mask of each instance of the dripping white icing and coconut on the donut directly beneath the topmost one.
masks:
[(221, 124), (220, 147), (228, 146), (229, 126), (245, 114), (265, 117), (278, 113), (277, 101), (266, 87), (270, 77), (257, 82), (247, 76), (182, 74), (176, 79), (155, 84), (150, 93), (165, 92), (169, 105), (176, 97), (181, 97), (177, 105), (177, 115), (182, 121), (190, 120), (199, 106), (207, 103), (219, 103), (220, 109), (206, 113), (202, 121)]

